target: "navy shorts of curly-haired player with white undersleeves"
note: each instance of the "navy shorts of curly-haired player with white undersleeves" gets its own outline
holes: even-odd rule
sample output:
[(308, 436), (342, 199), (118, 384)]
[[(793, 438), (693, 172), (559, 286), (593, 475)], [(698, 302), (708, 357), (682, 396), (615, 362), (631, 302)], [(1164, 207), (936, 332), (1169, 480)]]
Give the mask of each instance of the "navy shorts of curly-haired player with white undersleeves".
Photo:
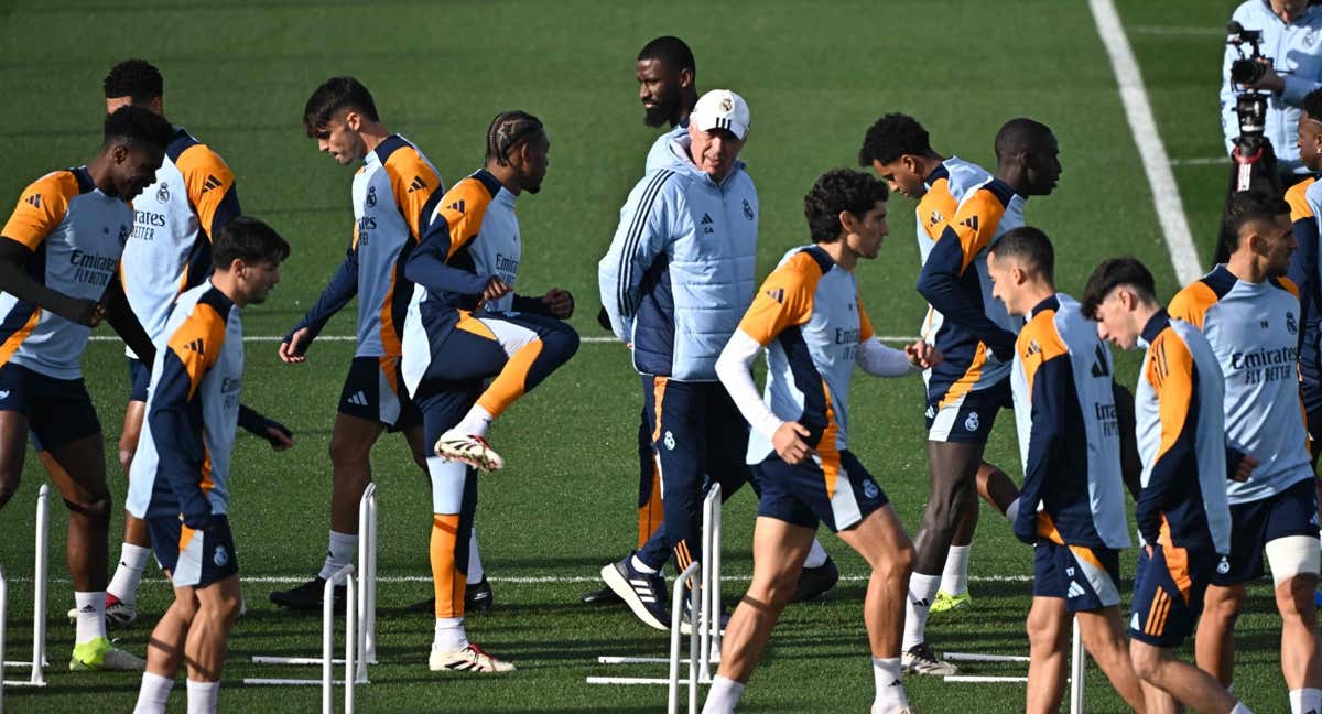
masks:
[(888, 502), (886, 492), (850, 451), (822, 452), (796, 465), (772, 454), (752, 467), (761, 487), (758, 516), (833, 533), (847, 530)]

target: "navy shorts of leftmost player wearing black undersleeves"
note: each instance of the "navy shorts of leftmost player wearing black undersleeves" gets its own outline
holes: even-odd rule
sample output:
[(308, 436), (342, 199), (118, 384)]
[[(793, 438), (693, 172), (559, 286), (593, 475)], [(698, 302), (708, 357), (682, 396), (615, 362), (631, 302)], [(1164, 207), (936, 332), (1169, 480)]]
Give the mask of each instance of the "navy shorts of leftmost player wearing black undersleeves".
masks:
[(100, 434), (97, 409), (81, 377), (56, 379), (13, 362), (0, 365), (0, 411), (28, 416), (37, 451)]

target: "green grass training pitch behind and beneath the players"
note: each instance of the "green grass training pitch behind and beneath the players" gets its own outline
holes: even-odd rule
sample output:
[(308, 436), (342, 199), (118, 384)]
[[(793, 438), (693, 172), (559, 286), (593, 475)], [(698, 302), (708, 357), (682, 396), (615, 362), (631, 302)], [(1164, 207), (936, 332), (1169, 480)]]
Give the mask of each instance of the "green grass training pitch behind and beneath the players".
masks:
[[(1121, 0), (1120, 11), (1173, 159), (1222, 153), (1216, 89), (1218, 28), (1235, 3)], [(1171, 30), (1170, 28), (1177, 28)], [(1050, 124), (1064, 175), (1056, 194), (1029, 204), (1060, 255), (1059, 283), (1081, 288), (1104, 257), (1130, 253), (1177, 288), (1155, 208), (1088, 7), (1080, 0), (896, 0), (653, 4), (340, 0), (208, 4), (143, 0), (131, 7), (70, 0), (0, 11), (0, 86), (9, 120), (0, 200), (46, 171), (77, 165), (99, 141), (100, 79), (127, 57), (144, 57), (167, 79), (167, 115), (212, 144), (238, 177), (245, 212), (271, 222), (293, 245), (271, 300), (245, 315), (250, 336), (283, 335), (316, 299), (349, 238), (352, 172), (319, 156), (300, 126), (303, 102), (333, 74), (354, 74), (374, 93), (385, 123), (418, 143), (452, 184), (479, 167), (486, 123), (501, 110), (539, 115), (553, 141), (538, 196), (520, 200), (527, 242), (521, 283), (575, 292), (574, 325), (595, 325), (595, 266), (617, 210), (640, 177), (654, 132), (642, 126), (633, 57), (657, 34), (680, 34), (698, 58), (699, 89), (731, 87), (752, 108), (744, 152), (758, 184), (760, 275), (806, 239), (801, 196), (818, 173), (854, 164), (865, 128), (884, 111), (906, 111), (939, 151), (992, 164), (999, 124), (1029, 115)], [(1224, 190), (1224, 164), (1179, 164), (1175, 176), (1200, 254), (1211, 255)], [(863, 298), (878, 332), (912, 335), (921, 317), (914, 291), (917, 251), (912, 202), (891, 201), (892, 235), (882, 259), (861, 267)], [(8, 205), (5, 206), (8, 210)], [(353, 308), (325, 335), (352, 335)], [(100, 329), (98, 335), (107, 336)], [(227, 711), (312, 711), (315, 688), (253, 688), (251, 654), (311, 654), (320, 619), (278, 612), (267, 592), (320, 565), (327, 537), (329, 427), (350, 342), (317, 344), (309, 362), (282, 365), (271, 341), (247, 345), (245, 401), (290, 424), (297, 447), (272, 455), (241, 439), (231, 477), (231, 516), (249, 614), (235, 627), (225, 673)], [(664, 707), (661, 688), (603, 688), (590, 674), (645, 676), (657, 668), (605, 668), (598, 654), (660, 654), (665, 636), (621, 608), (578, 604), (598, 569), (623, 555), (635, 533), (637, 381), (623, 348), (588, 342), (578, 357), (502, 419), (493, 440), (509, 467), (484, 477), (479, 506), (483, 559), (496, 608), (469, 619), (475, 641), (520, 665), (498, 681), (426, 669), (431, 621), (405, 612), (430, 592), (424, 477), (399, 439), (373, 455), (381, 497), (381, 665), (360, 689), (360, 711), (641, 713)], [(127, 393), (120, 348), (94, 342), (83, 360), (112, 455)], [(1133, 383), (1137, 360), (1120, 357)], [(906, 525), (925, 498), (921, 387), (915, 379), (859, 377), (853, 397), (854, 450), (879, 477)], [(1017, 471), (1013, 419), (1003, 415), (989, 457)], [(114, 463), (114, 459), (110, 459)], [(116, 504), (126, 481), (110, 469)], [(0, 563), (11, 578), (8, 658), (22, 658), (32, 625), (32, 502), (44, 475), (29, 459), (19, 496), (0, 514)], [(754, 501), (726, 512), (726, 599), (751, 570)], [(63, 657), (73, 629), (63, 566), (63, 508), (53, 500), (50, 685), (8, 689), (11, 711), (126, 711), (136, 674), (73, 674)], [(118, 553), (120, 518), (111, 526)], [(788, 608), (744, 698), (747, 711), (865, 711), (873, 694), (862, 627), (863, 563), (825, 538), (845, 580), (824, 600)], [(936, 616), (929, 640), (941, 649), (1026, 652), (1031, 553), (984, 509), (973, 550), (974, 608)], [(1133, 554), (1122, 562), (1133, 574)], [(1286, 709), (1277, 665), (1278, 620), (1269, 587), (1252, 588), (1240, 623), (1236, 690), (1257, 711)], [(123, 647), (141, 653), (168, 603), (152, 574), (141, 619)], [(1009, 666), (970, 666), (1011, 673)], [(283, 672), (283, 673), (280, 673)], [(309, 668), (262, 668), (263, 676), (315, 676)], [(15, 676), (13, 672), (9, 673)], [(1022, 685), (956, 685), (910, 677), (916, 710), (1021, 711)], [(1122, 705), (1096, 668), (1088, 710)], [(182, 711), (182, 686), (172, 710)]]

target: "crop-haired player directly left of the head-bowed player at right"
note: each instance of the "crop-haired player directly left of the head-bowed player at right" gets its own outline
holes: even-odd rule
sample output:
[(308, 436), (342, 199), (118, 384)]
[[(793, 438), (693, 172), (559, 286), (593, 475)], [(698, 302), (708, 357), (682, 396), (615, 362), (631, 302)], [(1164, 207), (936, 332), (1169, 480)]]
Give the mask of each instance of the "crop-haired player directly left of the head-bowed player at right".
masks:
[(1120, 614), (1120, 549), (1129, 547), (1114, 366), (1096, 325), (1055, 287), (1047, 235), (1021, 226), (988, 254), (992, 294), (1027, 319), (1015, 340), (1014, 422), (1023, 489), (1014, 534), (1034, 546), (1025, 711), (1059, 711), (1071, 620), (1136, 711), (1144, 693)]

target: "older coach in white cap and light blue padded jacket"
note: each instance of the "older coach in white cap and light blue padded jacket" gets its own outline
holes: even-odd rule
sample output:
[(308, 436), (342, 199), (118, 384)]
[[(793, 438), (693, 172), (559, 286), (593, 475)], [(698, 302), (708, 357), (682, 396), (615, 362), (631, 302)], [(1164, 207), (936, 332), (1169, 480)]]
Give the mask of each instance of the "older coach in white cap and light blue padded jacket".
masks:
[(717, 379), (756, 287), (758, 190), (739, 161), (748, 127), (742, 97), (703, 94), (669, 144), (673, 161), (629, 193), (598, 271), (611, 329), (641, 376), (665, 493), (661, 528), (602, 578), (657, 629), (670, 625), (662, 566), (672, 553), (681, 570), (702, 558), (706, 484), (728, 496), (748, 480), (748, 424)]

